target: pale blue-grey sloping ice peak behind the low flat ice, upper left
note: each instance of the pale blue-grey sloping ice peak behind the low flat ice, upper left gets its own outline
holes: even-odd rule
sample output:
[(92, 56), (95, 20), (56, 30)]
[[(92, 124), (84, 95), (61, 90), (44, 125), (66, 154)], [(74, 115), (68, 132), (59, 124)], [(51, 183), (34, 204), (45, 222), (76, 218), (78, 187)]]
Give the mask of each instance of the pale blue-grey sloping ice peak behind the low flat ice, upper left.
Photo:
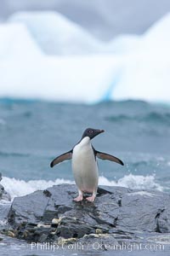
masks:
[(48, 12), (20, 12), (10, 22), (24, 24), (39, 47), (48, 55), (97, 53), (104, 45), (64, 15)]

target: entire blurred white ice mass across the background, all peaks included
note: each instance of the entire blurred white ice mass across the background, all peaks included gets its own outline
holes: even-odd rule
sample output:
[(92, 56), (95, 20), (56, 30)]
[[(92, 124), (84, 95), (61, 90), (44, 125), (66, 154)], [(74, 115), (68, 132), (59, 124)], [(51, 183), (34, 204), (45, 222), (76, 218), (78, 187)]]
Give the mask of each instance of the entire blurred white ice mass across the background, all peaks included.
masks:
[(106, 43), (58, 13), (17, 13), (0, 25), (0, 96), (170, 102), (169, 31), (167, 14)]

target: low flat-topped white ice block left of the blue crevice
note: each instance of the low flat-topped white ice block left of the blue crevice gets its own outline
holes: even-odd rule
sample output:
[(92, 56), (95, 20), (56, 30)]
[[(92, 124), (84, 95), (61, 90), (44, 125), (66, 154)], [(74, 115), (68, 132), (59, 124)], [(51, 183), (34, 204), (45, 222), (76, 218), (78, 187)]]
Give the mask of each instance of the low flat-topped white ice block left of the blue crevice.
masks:
[(99, 102), (117, 68), (116, 59), (107, 55), (1, 62), (0, 96), (58, 102)]

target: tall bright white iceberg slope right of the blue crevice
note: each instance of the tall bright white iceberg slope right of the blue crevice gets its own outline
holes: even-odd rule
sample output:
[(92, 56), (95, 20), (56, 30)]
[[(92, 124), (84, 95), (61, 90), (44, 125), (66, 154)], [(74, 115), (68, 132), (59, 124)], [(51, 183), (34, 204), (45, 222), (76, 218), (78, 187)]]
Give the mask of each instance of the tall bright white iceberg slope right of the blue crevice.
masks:
[(144, 33), (139, 47), (131, 55), (125, 56), (124, 73), (111, 98), (170, 102), (169, 31), (170, 14)]

